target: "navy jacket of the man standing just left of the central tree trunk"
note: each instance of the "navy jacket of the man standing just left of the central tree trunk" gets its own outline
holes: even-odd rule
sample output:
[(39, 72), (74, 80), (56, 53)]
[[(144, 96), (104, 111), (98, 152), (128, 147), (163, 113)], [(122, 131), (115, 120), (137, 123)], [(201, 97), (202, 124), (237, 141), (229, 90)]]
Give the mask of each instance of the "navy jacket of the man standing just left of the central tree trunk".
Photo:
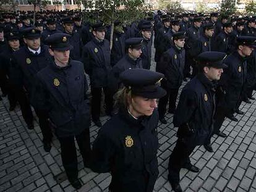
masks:
[(85, 72), (90, 76), (92, 87), (108, 85), (108, 74), (111, 70), (109, 41), (98, 41), (95, 38), (83, 46), (82, 61)]

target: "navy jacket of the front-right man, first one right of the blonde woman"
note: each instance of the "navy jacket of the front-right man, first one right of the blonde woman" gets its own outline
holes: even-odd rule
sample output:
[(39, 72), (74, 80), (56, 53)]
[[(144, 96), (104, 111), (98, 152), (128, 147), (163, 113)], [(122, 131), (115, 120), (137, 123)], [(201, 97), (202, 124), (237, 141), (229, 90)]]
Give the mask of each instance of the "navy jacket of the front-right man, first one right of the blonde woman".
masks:
[(204, 144), (213, 130), (215, 83), (199, 73), (183, 88), (174, 114), (177, 136), (190, 145)]

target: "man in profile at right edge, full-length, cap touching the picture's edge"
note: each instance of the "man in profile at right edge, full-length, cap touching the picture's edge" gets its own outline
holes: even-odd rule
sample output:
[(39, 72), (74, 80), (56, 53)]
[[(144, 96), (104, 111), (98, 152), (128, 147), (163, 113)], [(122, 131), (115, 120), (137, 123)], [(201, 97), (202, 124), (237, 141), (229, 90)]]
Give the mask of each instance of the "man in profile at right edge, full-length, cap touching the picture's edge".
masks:
[(228, 69), (219, 82), (222, 93), (218, 95), (218, 108), (216, 110), (214, 133), (221, 137), (226, 134), (220, 132), (225, 116), (231, 120), (238, 121), (234, 117), (234, 112), (244, 114), (239, 110), (242, 96), (245, 91), (245, 81), (247, 80), (246, 58), (252, 54), (255, 48), (256, 38), (252, 36), (239, 36), (237, 38), (237, 49), (225, 59)]

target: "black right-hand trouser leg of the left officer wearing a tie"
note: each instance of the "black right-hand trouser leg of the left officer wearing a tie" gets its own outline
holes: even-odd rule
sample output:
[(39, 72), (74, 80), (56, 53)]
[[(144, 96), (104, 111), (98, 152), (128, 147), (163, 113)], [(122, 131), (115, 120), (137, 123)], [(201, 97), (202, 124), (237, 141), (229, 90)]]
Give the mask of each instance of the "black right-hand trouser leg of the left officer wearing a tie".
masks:
[(36, 116), (38, 117), (39, 127), (41, 128), (43, 134), (43, 143), (50, 143), (53, 138), (53, 133), (51, 132), (51, 127), (49, 126), (48, 113), (46, 111), (41, 111), (40, 109), (35, 109)]

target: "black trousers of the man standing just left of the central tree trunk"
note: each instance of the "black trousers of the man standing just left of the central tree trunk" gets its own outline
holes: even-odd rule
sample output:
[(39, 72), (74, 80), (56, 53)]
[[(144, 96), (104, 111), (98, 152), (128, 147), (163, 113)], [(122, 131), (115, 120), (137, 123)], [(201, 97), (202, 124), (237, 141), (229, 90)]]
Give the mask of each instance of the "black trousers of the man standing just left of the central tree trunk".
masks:
[(113, 91), (109, 88), (91, 88), (92, 92), (92, 119), (100, 119), (100, 107), (101, 107), (101, 93), (102, 90), (105, 94), (106, 113), (113, 111)]

